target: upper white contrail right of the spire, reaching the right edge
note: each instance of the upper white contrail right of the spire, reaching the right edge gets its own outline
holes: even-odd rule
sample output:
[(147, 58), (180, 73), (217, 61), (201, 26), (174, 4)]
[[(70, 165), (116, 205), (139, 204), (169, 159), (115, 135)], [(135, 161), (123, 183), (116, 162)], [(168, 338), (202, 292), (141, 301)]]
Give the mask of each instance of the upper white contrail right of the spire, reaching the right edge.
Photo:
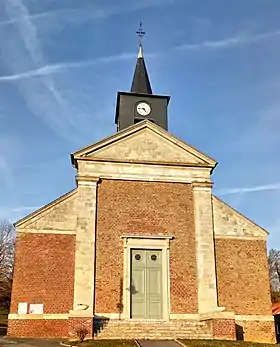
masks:
[(194, 44), (182, 44), (174, 47), (175, 51), (198, 51), (204, 49), (223, 49), (223, 48), (231, 48), (236, 46), (249, 45), (253, 43), (257, 43), (259, 41), (277, 37), (280, 35), (280, 30), (270, 31), (258, 35), (246, 36), (239, 35), (236, 37), (229, 37), (223, 40), (217, 41), (205, 41), (202, 43), (194, 43)]

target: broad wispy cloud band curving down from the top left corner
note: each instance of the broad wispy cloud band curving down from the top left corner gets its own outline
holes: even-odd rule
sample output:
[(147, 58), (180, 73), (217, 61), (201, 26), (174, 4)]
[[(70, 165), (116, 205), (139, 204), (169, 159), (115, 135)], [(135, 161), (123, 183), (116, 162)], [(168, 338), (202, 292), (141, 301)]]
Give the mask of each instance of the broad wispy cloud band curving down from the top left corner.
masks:
[[(72, 141), (77, 137), (77, 107), (70, 103), (70, 99), (65, 98), (56, 87), (55, 80), (49, 66), (45, 72), (45, 59), (42, 45), (37, 33), (36, 25), (30, 20), (28, 8), (22, 0), (7, 0), (6, 13), (10, 19), (17, 18), (15, 29), (17, 33), (11, 31), (13, 44), (9, 40), (3, 40), (2, 49), (5, 51), (3, 58), (6, 59), (7, 67), (13, 73), (10, 78), (17, 80), (17, 87), (23, 95), (30, 111), (46, 123), (58, 135)], [(17, 57), (11, 59), (10, 57)], [(60, 68), (62, 68), (60, 66)], [(26, 70), (23, 76), (18, 70)], [(41, 77), (27, 78), (42, 70)], [(48, 71), (49, 70), (49, 71)], [(36, 72), (37, 71), (37, 72)], [(14, 76), (14, 77), (12, 77)], [(3, 76), (3, 81), (8, 76)], [(24, 83), (20, 79), (25, 78)], [(80, 118), (84, 117), (82, 110), (79, 110)]]

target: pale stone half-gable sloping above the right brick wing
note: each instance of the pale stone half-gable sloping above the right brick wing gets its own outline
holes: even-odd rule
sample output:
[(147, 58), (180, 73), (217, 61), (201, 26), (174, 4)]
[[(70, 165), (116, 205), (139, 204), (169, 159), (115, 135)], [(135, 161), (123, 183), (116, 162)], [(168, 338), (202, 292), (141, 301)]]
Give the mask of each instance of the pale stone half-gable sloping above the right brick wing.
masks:
[(215, 237), (261, 238), (268, 232), (231, 206), (212, 196)]

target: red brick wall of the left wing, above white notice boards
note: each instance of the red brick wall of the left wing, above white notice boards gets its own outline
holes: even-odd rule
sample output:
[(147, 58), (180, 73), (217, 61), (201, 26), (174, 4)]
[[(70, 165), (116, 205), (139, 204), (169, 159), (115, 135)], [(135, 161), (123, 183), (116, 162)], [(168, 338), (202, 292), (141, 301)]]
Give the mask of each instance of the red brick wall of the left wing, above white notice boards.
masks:
[(11, 313), (17, 313), (19, 302), (43, 303), (44, 313), (68, 313), (73, 306), (74, 262), (74, 235), (18, 237)]

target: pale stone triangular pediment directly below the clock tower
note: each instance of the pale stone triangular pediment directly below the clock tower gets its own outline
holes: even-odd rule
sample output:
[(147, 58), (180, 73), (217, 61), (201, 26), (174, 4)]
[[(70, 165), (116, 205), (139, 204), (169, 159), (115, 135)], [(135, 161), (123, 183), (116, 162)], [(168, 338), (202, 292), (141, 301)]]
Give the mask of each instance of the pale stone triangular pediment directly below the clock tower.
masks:
[(193, 164), (215, 167), (216, 161), (161, 127), (143, 121), (74, 154), (103, 160)]

